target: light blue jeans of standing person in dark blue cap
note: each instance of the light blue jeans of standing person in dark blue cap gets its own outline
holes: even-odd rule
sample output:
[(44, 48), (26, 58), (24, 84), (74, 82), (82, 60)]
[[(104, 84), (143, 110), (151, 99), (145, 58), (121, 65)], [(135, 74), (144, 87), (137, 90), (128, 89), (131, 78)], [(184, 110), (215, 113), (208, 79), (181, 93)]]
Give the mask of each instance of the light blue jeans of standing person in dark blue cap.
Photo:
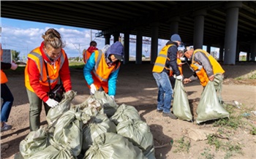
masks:
[(170, 84), (170, 78), (165, 71), (153, 73), (158, 86), (157, 109), (165, 113), (170, 112), (170, 104), (173, 100), (173, 88)]

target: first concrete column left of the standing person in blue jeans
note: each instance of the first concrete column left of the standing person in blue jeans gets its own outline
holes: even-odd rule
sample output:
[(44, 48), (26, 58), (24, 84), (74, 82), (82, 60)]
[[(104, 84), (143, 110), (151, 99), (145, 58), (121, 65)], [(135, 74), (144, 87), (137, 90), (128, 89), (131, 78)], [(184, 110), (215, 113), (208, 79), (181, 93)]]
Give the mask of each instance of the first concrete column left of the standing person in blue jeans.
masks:
[(151, 24), (151, 64), (157, 59), (158, 54), (158, 31), (159, 31), (159, 23), (152, 23)]

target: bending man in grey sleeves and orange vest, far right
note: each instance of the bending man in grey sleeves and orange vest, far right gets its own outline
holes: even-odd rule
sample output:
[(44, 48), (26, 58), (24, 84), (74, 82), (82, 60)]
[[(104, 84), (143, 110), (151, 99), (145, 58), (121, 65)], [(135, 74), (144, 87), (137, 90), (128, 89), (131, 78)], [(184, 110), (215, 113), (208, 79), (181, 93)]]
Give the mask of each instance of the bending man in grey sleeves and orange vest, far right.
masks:
[(219, 102), (222, 102), (221, 92), (225, 71), (218, 61), (205, 50), (194, 50), (192, 47), (185, 49), (184, 55), (192, 61), (190, 69), (195, 72), (191, 77), (184, 79), (184, 84), (199, 79), (200, 84), (205, 88), (208, 81), (214, 81), (215, 90), (219, 94)]

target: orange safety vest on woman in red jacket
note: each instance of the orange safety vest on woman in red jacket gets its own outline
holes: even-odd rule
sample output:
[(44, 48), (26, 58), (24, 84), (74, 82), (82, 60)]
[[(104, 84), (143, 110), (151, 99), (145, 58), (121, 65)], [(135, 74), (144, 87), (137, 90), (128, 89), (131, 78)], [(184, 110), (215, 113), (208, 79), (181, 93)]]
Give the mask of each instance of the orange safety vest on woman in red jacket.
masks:
[[(67, 58), (64, 50), (61, 50), (61, 53), (62, 53), (61, 57), (57, 61), (55, 61), (55, 66), (52, 66), (52, 65), (47, 63), (48, 74), (49, 74), (49, 78), (50, 78), (50, 85), (53, 85), (53, 86), (55, 86), (58, 83), (59, 70), (63, 66), (65, 58)], [(42, 53), (41, 53), (39, 47), (32, 50), (31, 53), (29, 53), (28, 58), (33, 60), (37, 65), (37, 69), (38, 69), (39, 74), (40, 74), (39, 84), (48, 86), (49, 83), (48, 83), (47, 73), (46, 73), (46, 69), (45, 69), (45, 62), (44, 62), (44, 59), (42, 58)], [(28, 67), (29, 66), (26, 65), (26, 68), (25, 68), (25, 86), (26, 86), (26, 88), (31, 90), (31, 92), (34, 92), (33, 88), (31, 88), (31, 85), (30, 85), (30, 82), (29, 82)]]

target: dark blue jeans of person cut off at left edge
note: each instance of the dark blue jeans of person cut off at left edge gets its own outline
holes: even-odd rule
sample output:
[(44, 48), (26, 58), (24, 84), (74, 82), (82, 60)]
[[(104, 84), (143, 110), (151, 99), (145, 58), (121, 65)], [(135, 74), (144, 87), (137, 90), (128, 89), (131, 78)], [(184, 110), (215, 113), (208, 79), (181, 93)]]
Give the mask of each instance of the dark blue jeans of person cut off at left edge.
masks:
[(1, 122), (7, 122), (14, 98), (11, 90), (5, 83), (1, 84), (1, 98), (3, 99), (3, 104), (1, 104)]

